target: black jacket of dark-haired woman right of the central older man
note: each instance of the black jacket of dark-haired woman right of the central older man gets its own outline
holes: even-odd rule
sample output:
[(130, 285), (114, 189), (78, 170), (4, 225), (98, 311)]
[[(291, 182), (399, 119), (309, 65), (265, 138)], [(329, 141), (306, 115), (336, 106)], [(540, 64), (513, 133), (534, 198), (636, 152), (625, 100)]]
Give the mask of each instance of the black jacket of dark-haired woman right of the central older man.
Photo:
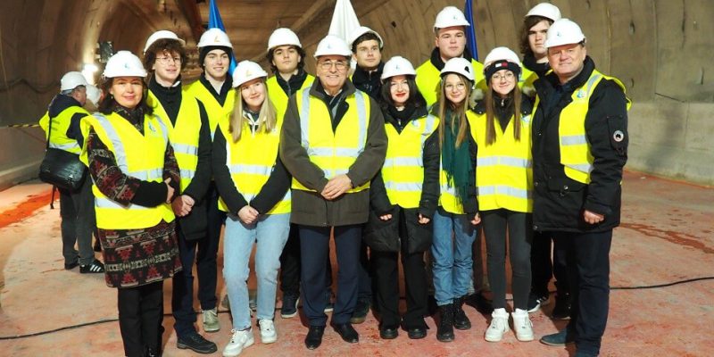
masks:
[[(399, 125), (397, 120), (388, 112), (383, 111), (386, 125), (393, 125), (401, 132), (408, 123)], [(422, 118), (428, 114), (425, 107), (417, 108), (411, 120)], [(388, 144), (387, 144), (388, 145)], [(372, 179), (369, 186), (369, 220), (364, 228), (364, 241), (370, 248), (383, 252), (399, 252), (401, 242), (399, 237), (400, 223), (406, 227), (407, 252), (418, 253), (428, 250), (431, 246), (433, 225), (419, 223), (419, 213), (429, 219), (434, 218), (436, 206), (439, 203), (439, 137), (437, 131), (427, 138), (424, 143), (422, 161), (424, 163), (424, 182), (422, 184), (419, 208), (403, 208), (389, 202), (386, 195), (384, 180), (381, 170)], [(400, 222), (402, 218), (404, 222)], [(391, 220), (380, 220), (379, 216), (392, 214)]]

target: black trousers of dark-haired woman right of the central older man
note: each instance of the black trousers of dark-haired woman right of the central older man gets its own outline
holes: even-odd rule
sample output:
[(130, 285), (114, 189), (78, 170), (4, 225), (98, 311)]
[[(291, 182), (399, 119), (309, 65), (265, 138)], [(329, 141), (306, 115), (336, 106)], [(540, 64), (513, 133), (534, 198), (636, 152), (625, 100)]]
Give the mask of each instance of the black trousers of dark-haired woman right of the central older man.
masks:
[[(424, 316), (427, 315), (427, 269), (424, 252), (407, 253), (408, 230), (403, 211), (393, 220), (399, 220), (401, 252), (378, 252), (371, 250), (371, 262), (376, 281), (376, 300), (381, 315), (380, 325), (385, 328), (398, 328), (403, 322), (404, 328), (426, 328)], [(403, 319), (399, 313), (399, 258), (402, 258), (404, 270), (404, 293), (407, 311)]]

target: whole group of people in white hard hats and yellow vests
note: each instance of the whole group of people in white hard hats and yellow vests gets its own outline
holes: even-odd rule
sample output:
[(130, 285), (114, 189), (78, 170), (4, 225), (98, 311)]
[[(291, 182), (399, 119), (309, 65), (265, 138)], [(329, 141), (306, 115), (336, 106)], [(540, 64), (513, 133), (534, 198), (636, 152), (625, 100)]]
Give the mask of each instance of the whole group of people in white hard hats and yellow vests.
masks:
[[(625, 87), (595, 70), (582, 30), (552, 4), (527, 13), (522, 61), (496, 47), (477, 62), (466, 48), (468, 27), (459, 9), (445, 7), (435, 48), (418, 68), (401, 56), (383, 62), (385, 43), (372, 29), (355, 29), (347, 41), (328, 35), (313, 54), (314, 77), (290, 29), (276, 29), (268, 41), (272, 76), (250, 61), (228, 73), (233, 46), (225, 32), (208, 29), (198, 43), (203, 74), (188, 86), (180, 76), (185, 41), (160, 30), (142, 59), (127, 51), (109, 59), (94, 114), (75, 114), (83, 104), (77, 96), (91, 86), (62, 81), (58, 97), (75, 102), (59, 114), (51, 106), (47, 119), (57, 124), (49, 140), (61, 137), (56, 143), (87, 164), (91, 180), (78, 195), (94, 197), (124, 353), (161, 354), (167, 278), (178, 347), (217, 351), (195, 327), (192, 270), (196, 264), (203, 331), (218, 331), (216, 255), (225, 224), (233, 329), (224, 356), (253, 345), (253, 324), (263, 344), (277, 341), (278, 274), (280, 314), (295, 316), (302, 301), (304, 344), (315, 349), (327, 311), (348, 343), (359, 341), (353, 324), (370, 307), (381, 338), (396, 338), (399, 329), (424, 338), (429, 296), (439, 341), (471, 328), (469, 302), (491, 313), (486, 341), (502, 340), (509, 320), (519, 341), (532, 341), (528, 312), (548, 302), (552, 271), (553, 318), (570, 320), (541, 341), (575, 342), (578, 356), (597, 355), (627, 161)], [(77, 213), (69, 204), (62, 203), (63, 222), (72, 219), (65, 211)], [(492, 301), (481, 291), (481, 231)], [(77, 253), (65, 251), (71, 269)], [(79, 263), (92, 264), (84, 256)]]

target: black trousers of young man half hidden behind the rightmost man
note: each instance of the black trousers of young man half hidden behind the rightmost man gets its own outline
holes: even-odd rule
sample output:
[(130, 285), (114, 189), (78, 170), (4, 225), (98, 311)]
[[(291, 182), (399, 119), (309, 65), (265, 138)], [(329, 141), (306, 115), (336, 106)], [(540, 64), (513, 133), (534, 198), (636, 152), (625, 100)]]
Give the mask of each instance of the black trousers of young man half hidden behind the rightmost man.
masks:
[[(537, 295), (548, 295), (548, 283), (555, 277), (558, 295), (570, 293), (565, 254), (554, 248), (550, 232), (534, 232), (530, 250), (531, 290)], [(552, 250), (552, 252), (551, 252)], [(552, 260), (551, 260), (552, 253)]]

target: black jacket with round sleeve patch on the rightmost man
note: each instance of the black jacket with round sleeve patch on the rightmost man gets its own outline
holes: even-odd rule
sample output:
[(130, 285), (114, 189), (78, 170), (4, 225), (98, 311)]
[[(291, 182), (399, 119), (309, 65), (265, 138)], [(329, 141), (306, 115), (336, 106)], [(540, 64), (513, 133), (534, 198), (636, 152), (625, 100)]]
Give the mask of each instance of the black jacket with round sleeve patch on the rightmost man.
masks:
[[(569, 179), (560, 164), (560, 112), (594, 68), (593, 60), (586, 57), (583, 71), (562, 86), (554, 73), (535, 81), (540, 98), (532, 127), (535, 230), (597, 232), (619, 225), (628, 135), (627, 98), (617, 83), (602, 79), (590, 97), (585, 116), (585, 135), (594, 156), (590, 184)], [(585, 210), (602, 214), (605, 220), (585, 223)]]

